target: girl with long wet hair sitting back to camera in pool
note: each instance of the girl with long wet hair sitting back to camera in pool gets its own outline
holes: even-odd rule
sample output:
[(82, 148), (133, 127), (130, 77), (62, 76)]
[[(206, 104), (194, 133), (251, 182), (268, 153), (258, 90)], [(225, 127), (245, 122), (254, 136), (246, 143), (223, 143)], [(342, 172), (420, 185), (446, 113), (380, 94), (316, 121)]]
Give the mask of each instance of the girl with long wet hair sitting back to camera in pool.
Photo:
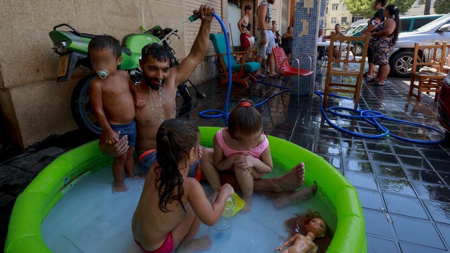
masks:
[(234, 193), (226, 183), (212, 204), (200, 183), (187, 173), (200, 159), (199, 129), (184, 119), (163, 121), (156, 133), (157, 163), (149, 170), (133, 215), (132, 231), (144, 252), (205, 250), (208, 237), (193, 239), (200, 222), (213, 225)]

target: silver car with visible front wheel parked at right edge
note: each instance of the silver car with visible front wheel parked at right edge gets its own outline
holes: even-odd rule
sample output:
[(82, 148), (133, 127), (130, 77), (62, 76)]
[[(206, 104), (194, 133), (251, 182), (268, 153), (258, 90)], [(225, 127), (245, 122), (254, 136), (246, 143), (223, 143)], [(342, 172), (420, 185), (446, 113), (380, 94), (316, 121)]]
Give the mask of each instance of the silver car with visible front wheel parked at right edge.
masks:
[(391, 73), (400, 77), (411, 76), (413, 71), (414, 43), (431, 45), (435, 41), (450, 42), (450, 13), (412, 32), (399, 34), (395, 48), (389, 56)]

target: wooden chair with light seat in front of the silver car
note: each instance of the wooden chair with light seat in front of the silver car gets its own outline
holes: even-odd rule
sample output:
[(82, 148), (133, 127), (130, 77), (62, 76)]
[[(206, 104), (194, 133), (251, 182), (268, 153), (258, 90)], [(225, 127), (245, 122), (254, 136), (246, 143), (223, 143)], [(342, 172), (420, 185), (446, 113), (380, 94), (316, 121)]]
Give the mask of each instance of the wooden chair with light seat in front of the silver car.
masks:
[[(417, 98), (420, 102), (422, 92), (430, 94), (436, 93), (435, 101), (438, 98), (441, 83), (446, 74), (443, 72), (446, 58), (447, 43), (438, 41), (434, 45), (414, 44), (413, 73), (411, 74), (410, 96)], [(416, 71), (420, 68), (419, 71)], [(418, 84), (416, 84), (416, 79)], [(414, 94), (417, 88), (417, 95)]]

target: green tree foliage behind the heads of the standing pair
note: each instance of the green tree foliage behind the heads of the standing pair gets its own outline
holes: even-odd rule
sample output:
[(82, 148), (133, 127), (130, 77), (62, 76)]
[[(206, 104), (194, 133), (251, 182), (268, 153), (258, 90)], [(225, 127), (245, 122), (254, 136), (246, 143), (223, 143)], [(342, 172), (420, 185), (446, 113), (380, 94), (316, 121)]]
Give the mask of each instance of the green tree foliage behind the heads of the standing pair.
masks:
[[(413, 6), (415, 0), (388, 0), (386, 5), (393, 4), (400, 9), (400, 13), (404, 14)], [(439, 0), (436, 0), (439, 1)], [(449, 0), (441, 0), (442, 2), (450, 2)], [(362, 15), (365, 18), (371, 18), (375, 11), (373, 10), (374, 1), (368, 0), (345, 0), (347, 10), (353, 15)], [(435, 4), (436, 6), (436, 4)]]

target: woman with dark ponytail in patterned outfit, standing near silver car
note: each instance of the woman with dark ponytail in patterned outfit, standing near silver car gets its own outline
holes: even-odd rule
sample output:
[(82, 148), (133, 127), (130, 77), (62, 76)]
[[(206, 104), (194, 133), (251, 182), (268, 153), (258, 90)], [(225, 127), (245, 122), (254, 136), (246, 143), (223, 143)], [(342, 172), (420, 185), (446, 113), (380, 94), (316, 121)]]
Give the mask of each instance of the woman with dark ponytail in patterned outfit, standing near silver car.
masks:
[(369, 82), (384, 85), (384, 80), (391, 70), (389, 66), (389, 53), (392, 52), (400, 30), (399, 9), (395, 5), (384, 8), (383, 16), (386, 18), (371, 34), (370, 47), (373, 49), (373, 63), (378, 65), (378, 74)]

